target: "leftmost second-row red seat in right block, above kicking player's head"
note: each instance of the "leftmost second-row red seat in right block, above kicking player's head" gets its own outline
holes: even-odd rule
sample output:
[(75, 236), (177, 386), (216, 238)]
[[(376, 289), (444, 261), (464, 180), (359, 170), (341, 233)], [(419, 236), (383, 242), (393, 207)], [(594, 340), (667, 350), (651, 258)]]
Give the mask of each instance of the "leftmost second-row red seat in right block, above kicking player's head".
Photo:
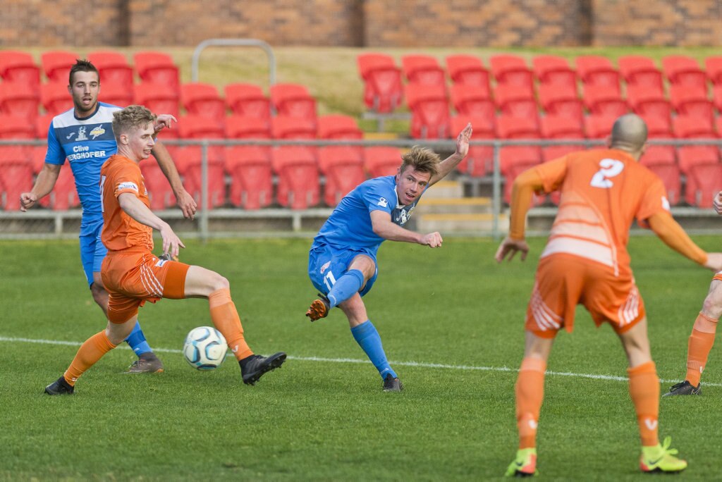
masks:
[(449, 136), (445, 86), (408, 84), (406, 102), (412, 112), (411, 136), (414, 139), (445, 139)]

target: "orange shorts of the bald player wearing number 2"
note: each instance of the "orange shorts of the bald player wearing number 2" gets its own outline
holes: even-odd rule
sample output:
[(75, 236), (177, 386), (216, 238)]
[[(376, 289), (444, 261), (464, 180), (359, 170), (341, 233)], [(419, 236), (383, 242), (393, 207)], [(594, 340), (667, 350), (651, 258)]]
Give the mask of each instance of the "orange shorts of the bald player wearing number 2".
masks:
[(526, 329), (541, 338), (574, 327), (577, 304), (583, 304), (597, 326), (607, 322), (617, 333), (645, 316), (644, 302), (632, 272), (614, 276), (612, 269), (573, 255), (542, 258), (526, 309)]

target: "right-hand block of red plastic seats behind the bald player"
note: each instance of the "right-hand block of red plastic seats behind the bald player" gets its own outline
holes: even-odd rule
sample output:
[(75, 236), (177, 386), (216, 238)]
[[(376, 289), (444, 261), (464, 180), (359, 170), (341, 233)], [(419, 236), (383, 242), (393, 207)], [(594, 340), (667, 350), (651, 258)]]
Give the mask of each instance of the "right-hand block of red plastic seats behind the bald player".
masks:
[[(644, 56), (622, 56), (617, 66), (601, 56), (570, 63), (548, 55), (529, 65), (506, 54), (491, 56), (488, 66), (469, 55), (448, 56), (445, 66), (427, 55), (402, 56), (400, 66), (381, 53), (362, 54), (357, 62), (367, 108), (391, 113), (405, 100), (409, 135), (417, 139), (453, 138), (467, 122), (474, 125), (474, 139), (604, 139), (614, 119), (630, 112), (648, 123), (650, 139), (722, 134), (722, 56), (706, 58), (704, 66), (667, 56), (661, 67)], [(505, 199), (518, 172), (579, 148), (502, 148)], [(492, 154), (489, 147), (472, 147), (459, 170), (488, 175)], [(651, 146), (641, 162), (664, 180), (673, 205), (707, 207), (722, 189), (717, 146)]]

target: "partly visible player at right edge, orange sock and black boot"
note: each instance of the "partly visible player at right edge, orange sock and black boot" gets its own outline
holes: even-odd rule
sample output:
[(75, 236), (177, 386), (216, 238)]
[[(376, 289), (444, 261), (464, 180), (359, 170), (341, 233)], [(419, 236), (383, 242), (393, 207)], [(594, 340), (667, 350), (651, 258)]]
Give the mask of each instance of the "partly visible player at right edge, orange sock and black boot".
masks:
[[(722, 191), (715, 196), (714, 203), (717, 214), (722, 214)], [(692, 333), (687, 340), (687, 374), (682, 382), (671, 386), (668, 393), (662, 395), (702, 395), (702, 372), (715, 344), (717, 323), (722, 316), (722, 273), (715, 273), (710, 283), (710, 290), (702, 310), (697, 315)]]

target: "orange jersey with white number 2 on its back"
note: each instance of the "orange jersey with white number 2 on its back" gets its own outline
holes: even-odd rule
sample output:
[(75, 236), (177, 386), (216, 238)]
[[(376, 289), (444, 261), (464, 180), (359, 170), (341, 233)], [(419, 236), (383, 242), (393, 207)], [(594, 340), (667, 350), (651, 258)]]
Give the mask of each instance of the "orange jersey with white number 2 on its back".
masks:
[(630, 272), (627, 240), (632, 221), (669, 211), (661, 179), (617, 149), (573, 152), (535, 167), (544, 192), (562, 197), (545, 258), (566, 253)]

